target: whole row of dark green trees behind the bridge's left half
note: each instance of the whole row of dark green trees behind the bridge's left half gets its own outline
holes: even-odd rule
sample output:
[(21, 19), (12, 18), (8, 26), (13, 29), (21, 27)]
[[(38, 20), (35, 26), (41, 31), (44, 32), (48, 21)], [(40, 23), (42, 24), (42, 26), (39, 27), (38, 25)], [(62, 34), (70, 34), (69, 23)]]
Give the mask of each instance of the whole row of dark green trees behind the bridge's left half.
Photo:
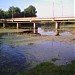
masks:
[(11, 6), (8, 11), (0, 9), (0, 19), (20, 18), (20, 17), (36, 17), (36, 8), (32, 5), (21, 11), (19, 7)]

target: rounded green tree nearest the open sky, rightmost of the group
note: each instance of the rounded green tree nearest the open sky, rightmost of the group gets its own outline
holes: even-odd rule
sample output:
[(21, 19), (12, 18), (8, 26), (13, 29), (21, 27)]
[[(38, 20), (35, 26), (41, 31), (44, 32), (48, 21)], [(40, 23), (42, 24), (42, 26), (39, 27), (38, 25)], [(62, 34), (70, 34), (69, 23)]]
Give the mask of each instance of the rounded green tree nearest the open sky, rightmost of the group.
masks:
[(23, 11), (25, 17), (36, 17), (36, 13), (37, 13), (36, 8), (32, 5), (30, 5)]

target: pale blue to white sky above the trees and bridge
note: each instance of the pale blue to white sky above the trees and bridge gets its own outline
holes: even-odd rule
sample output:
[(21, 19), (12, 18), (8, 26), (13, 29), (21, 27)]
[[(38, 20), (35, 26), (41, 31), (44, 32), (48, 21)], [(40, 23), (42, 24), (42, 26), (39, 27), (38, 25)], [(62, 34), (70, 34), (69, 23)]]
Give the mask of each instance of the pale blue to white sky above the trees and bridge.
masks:
[(3, 10), (15, 6), (23, 11), (30, 5), (35, 6), (38, 17), (75, 16), (75, 0), (0, 0)]

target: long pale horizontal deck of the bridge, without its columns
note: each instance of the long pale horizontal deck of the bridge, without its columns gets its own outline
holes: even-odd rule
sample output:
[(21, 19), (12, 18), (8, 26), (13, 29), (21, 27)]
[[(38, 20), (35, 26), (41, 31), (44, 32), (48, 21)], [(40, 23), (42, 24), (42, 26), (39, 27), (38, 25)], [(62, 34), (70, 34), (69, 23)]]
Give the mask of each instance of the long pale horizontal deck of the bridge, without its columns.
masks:
[(11, 18), (11, 19), (0, 19), (0, 22), (75, 22), (75, 17), (54, 17), (54, 18), (38, 18), (38, 17), (27, 17), (27, 18)]

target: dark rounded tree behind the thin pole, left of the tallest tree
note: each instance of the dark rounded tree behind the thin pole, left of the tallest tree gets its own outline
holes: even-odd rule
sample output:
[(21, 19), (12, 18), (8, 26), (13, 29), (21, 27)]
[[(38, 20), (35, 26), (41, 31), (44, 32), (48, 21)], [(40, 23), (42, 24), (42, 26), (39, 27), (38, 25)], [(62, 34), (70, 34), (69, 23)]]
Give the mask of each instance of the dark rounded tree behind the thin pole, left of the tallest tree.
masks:
[(21, 16), (21, 10), (18, 7), (10, 7), (8, 10), (9, 18), (17, 18)]

